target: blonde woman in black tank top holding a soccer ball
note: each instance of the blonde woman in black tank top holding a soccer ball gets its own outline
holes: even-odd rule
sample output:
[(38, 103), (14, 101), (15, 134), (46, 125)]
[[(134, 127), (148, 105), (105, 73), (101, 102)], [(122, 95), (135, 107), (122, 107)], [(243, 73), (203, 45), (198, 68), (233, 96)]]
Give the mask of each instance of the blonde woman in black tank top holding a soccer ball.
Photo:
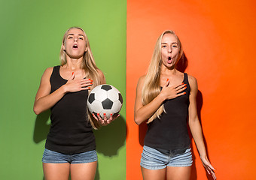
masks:
[(87, 113), (91, 89), (105, 84), (96, 67), (90, 43), (82, 28), (69, 28), (60, 49), (61, 66), (47, 68), (35, 96), (34, 112), (51, 110), (51, 126), (43, 155), (44, 178), (94, 179), (97, 166), (93, 128), (107, 125), (112, 116), (102, 119)]

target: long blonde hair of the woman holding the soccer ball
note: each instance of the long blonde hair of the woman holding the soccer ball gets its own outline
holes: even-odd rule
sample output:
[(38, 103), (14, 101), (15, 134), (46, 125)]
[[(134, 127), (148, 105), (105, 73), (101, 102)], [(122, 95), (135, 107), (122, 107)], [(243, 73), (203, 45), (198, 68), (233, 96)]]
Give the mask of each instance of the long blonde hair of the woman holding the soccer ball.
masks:
[[(64, 50), (64, 46), (66, 45), (66, 38), (68, 36), (69, 30), (71, 30), (72, 28), (78, 28), (84, 32), (87, 51), (84, 52), (84, 58), (83, 58), (81, 68), (84, 69), (85, 77), (93, 80), (93, 86), (91, 86), (91, 88), (89, 89), (89, 93), (90, 93), (90, 91), (94, 87), (102, 84), (102, 82), (100, 82), (100, 77), (99, 77), (99, 73), (98, 73), (98, 71), (100, 71), (100, 70), (99, 70), (99, 68), (97, 68), (96, 63), (94, 61), (93, 52), (90, 49), (90, 43), (89, 43), (87, 34), (85, 33), (84, 29), (82, 29), (80, 27), (71, 27), (66, 31), (66, 33), (64, 34), (63, 39), (62, 39), (62, 46), (60, 48), (59, 60), (60, 60), (61, 65), (66, 65), (67, 59), (66, 59), (66, 51)], [(90, 114), (90, 112), (88, 110), (87, 110), (87, 119), (90, 121), (90, 124), (93, 126), (94, 129), (98, 129), (100, 127), (98, 121), (96, 121), (96, 119), (93, 118), (93, 116)]]

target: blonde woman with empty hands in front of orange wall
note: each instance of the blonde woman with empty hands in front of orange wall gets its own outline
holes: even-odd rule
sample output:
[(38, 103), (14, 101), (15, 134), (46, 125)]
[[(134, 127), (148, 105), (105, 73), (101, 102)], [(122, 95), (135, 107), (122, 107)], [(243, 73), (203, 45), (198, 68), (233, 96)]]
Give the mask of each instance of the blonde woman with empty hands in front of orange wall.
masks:
[(148, 120), (141, 159), (145, 180), (190, 179), (193, 160), (187, 116), (203, 166), (216, 179), (197, 116), (197, 80), (176, 69), (182, 55), (177, 35), (164, 31), (157, 39), (148, 73), (137, 85), (134, 120), (136, 124)]

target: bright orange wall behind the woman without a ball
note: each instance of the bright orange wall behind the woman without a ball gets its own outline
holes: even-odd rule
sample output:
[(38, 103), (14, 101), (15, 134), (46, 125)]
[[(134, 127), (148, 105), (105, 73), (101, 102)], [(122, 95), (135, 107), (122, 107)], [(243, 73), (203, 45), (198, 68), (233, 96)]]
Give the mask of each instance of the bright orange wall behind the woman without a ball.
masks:
[[(217, 178), (256, 177), (255, 7), (252, 0), (127, 0), (126, 179), (142, 179), (139, 134), (144, 127), (133, 121), (136, 84), (166, 29), (178, 34), (188, 63), (185, 72), (197, 78), (201, 124)], [(207, 179), (192, 146), (191, 179)]]

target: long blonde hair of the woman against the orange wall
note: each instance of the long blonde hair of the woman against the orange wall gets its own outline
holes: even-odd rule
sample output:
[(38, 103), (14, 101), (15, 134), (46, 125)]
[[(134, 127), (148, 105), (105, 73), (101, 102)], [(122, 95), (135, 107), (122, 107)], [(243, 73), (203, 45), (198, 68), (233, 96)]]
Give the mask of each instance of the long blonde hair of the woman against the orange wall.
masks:
[[(153, 56), (151, 58), (151, 63), (148, 67), (148, 72), (145, 76), (144, 85), (142, 87), (142, 104), (145, 106), (153, 101), (157, 95), (160, 94), (160, 74), (161, 74), (161, 65), (162, 65), (162, 55), (161, 55), (161, 41), (164, 34), (173, 34), (178, 40), (178, 48), (179, 48), (179, 55), (178, 60), (183, 56), (183, 49), (181, 46), (181, 41), (178, 39), (178, 36), (175, 34), (174, 31), (163, 31), (163, 33), (158, 37), (157, 43), (154, 46)], [(177, 65), (177, 64), (176, 64)], [(147, 123), (150, 123), (155, 118), (160, 118), (160, 115), (165, 112), (163, 104), (158, 108), (158, 110), (151, 115), (148, 119)]]

